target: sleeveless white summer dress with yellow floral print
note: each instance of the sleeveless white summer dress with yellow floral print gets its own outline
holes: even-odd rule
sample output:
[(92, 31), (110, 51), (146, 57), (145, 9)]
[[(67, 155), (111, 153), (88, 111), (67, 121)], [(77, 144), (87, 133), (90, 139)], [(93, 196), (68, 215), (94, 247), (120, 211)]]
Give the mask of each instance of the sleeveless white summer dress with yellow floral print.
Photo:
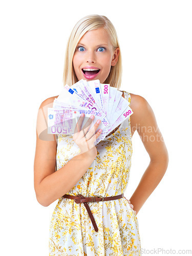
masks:
[[(130, 104), (130, 93), (123, 92)], [(96, 148), (95, 160), (68, 195), (112, 197), (125, 192), (132, 157), (130, 118)], [(57, 170), (79, 153), (72, 135), (58, 135)], [(83, 203), (58, 199), (50, 222), (49, 256), (141, 255), (137, 216), (124, 197), (88, 204), (98, 232)]]

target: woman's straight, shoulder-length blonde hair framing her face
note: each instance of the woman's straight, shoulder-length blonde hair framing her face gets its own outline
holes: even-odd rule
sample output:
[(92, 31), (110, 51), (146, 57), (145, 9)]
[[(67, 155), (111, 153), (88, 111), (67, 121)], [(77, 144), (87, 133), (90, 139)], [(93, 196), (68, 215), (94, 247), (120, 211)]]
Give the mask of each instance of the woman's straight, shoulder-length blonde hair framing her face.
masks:
[[(111, 39), (111, 44), (113, 45), (114, 50), (117, 47), (119, 47), (119, 42), (118, 42), (118, 37), (117, 37), (115, 27), (107, 17), (94, 14), (94, 15), (88, 15), (81, 18), (73, 28), (67, 42), (64, 71), (63, 71), (64, 86), (66, 85), (66, 83), (69, 86), (72, 86), (72, 84), (78, 81), (73, 68), (73, 55), (79, 40), (87, 31), (91, 31), (98, 28), (104, 28), (106, 32), (108, 32)], [(122, 59), (121, 59), (121, 51), (119, 47), (118, 61), (115, 66), (111, 67), (109, 76), (106, 78), (104, 83), (109, 83), (110, 86), (119, 89), (121, 86), (121, 76), (122, 76)]]

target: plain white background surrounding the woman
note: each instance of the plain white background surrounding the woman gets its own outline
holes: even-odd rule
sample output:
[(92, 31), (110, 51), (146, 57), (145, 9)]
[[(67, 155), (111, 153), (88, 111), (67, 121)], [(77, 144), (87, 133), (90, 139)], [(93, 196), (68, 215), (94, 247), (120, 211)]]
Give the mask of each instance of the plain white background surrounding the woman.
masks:
[[(35, 197), (36, 116), (40, 103), (61, 91), (68, 37), (88, 14), (114, 24), (123, 58), (120, 90), (150, 103), (169, 153), (167, 172), (137, 215), (141, 246), (192, 249), (191, 1), (4, 1), (0, 10), (1, 255), (49, 255), (57, 201), (44, 207)], [(135, 133), (126, 198), (149, 161)]]

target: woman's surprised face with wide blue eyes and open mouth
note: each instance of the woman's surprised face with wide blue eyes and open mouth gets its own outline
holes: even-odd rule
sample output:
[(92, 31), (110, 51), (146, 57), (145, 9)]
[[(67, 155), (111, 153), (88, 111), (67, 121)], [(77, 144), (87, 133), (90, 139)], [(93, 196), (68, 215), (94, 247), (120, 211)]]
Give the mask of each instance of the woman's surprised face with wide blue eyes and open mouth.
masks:
[(103, 83), (111, 66), (116, 65), (118, 56), (119, 48), (113, 50), (110, 37), (103, 28), (86, 32), (79, 40), (73, 55), (73, 68), (77, 79), (99, 79)]

